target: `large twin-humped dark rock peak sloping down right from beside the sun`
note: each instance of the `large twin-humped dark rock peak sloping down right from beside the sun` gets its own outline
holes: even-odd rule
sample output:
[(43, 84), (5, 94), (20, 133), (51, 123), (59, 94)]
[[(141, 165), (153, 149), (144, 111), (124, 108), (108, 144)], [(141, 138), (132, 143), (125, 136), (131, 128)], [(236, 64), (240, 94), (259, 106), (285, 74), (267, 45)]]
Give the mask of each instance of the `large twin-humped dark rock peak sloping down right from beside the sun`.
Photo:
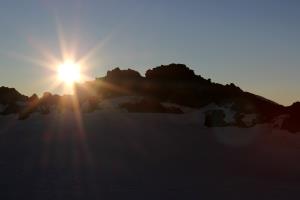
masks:
[(279, 104), (244, 92), (233, 83), (212, 83), (210, 79), (196, 75), (184, 64), (161, 65), (147, 70), (145, 77), (131, 69), (116, 68), (105, 77), (87, 83), (86, 87), (92, 88), (94, 94), (103, 98), (142, 95), (195, 108), (210, 103), (233, 103), (236, 111), (261, 114), (261, 122), (270, 121), (284, 112), (284, 107)]

